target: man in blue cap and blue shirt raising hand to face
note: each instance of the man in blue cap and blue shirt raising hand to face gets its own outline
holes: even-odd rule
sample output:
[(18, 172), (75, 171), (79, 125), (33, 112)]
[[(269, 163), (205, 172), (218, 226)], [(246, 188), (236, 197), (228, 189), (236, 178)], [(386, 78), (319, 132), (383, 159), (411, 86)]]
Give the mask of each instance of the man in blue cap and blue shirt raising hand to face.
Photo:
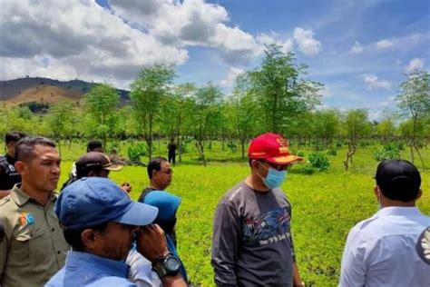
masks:
[(158, 209), (134, 203), (111, 180), (91, 177), (70, 184), (55, 213), (73, 251), (46, 286), (136, 286), (125, 263), (134, 236), (137, 251), (151, 261), (164, 286), (186, 286), (178, 274), (181, 262), (168, 252), (161, 228), (149, 225)]

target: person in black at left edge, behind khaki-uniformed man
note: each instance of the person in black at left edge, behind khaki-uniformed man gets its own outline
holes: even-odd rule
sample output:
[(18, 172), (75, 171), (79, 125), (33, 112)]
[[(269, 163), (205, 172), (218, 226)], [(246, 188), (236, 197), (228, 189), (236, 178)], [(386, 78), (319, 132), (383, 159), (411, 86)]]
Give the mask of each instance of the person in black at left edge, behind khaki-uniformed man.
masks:
[(15, 145), (25, 136), (21, 132), (5, 135), (6, 154), (0, 155), (0, 199), (8, 195), (16, 183), (21, 183), (21, 175), (15, 170)]

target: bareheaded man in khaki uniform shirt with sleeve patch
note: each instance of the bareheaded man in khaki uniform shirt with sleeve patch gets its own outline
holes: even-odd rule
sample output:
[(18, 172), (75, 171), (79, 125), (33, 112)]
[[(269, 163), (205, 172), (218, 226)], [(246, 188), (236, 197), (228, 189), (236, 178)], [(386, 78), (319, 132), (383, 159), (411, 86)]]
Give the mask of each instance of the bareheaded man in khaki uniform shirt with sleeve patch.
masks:
[(22, 183), (0, 200), (0, 285), (43, 286), (64, 266), (69, 250), (54, 213), (60, 177), (55, 143), (26, 137), (16, 144), (15, 168)]

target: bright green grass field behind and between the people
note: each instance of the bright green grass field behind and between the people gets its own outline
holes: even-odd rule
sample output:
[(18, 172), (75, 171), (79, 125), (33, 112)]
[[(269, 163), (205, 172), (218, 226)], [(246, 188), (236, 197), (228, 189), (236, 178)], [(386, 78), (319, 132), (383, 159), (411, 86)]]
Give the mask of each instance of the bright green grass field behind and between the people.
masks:
[[(156, 144), (155, 155), (165, 155), (164, 146)], [(63, 147), (62, 179), (67, 178), (73, 160), (84, 153), (82, 145), (72, 149)], [(282, 185), (293, 206), (292, 229), (295, 239), (299, 270), (307, 286), (336, 286), (340, 259), (349, 229), (377, 210), (373, 195), (376, 161), (372, 157), (375, 146), (359, 148), (354, 166), (345, 172), (342, 160), (346, 149), (329, 156), (331, 166), (325, 173), (305, 175), (294, 166)], [(190, 149), (191, 150), (191, 149)], [(305, 152), (305, 160), (311, 150)], [(125, 153), (121, 145), (120, 152)], [(425, 163), (430, 163), (430, 151), (423, 150)], [(177, 233), (179, 252), (192, 282), (202, 286), (213, 285), (210, 266), (211, 228), (214, 210), (223, 193), (249, 173), (248, 163), (240, 161), (239, 151), (222, 152), (214, 144), (208, 153), (207, 167), (197, 162), (197, 153), (186, 153), (184, 162), (174, 166), (174, 178), (168, 190), (181, 196)], [(404, 151), (404, 158), (409, 154)], [(232, 159), (232, 161), (229, 161)], [(302, 164), (302, 163), (300, 163)], [(420, 165), (417, 163), (418, 166)], [(430, 171), (422, 172), (424, 190), (418, 206), (430, 214)], [(117, 183), (132, 183), (132, 198), (137, 199), (148, 183), (146, 168), (127, 166), (119, 173), (111, 173)], [(61, 186), (61, 185), (59, 185)]]

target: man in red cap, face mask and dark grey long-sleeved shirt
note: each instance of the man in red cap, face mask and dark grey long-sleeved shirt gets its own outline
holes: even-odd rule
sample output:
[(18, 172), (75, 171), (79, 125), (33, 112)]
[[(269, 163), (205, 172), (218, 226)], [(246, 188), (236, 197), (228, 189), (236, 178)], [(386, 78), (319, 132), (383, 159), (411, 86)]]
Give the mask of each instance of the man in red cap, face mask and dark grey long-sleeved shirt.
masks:
[(290, 230), (291, 205), (280, 185), (289, 153), (279, 134), (260, 134), (248, 150), (250, 174), (220, 200), (212, 237), (217, 286), (304, 286)]

